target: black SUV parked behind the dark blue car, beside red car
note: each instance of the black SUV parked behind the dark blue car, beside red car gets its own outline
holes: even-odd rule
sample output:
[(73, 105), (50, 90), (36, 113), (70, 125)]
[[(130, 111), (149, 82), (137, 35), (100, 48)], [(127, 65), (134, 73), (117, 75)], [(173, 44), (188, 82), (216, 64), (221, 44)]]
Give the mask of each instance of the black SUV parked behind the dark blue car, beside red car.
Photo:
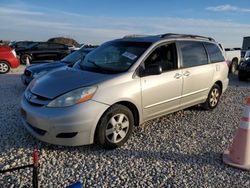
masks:
[(20, 56), (23, 64), (26, 64), (27, 58), (29, 62), (37, 60), (60, 60), (70, 52), (67, 45), (49, 42), (33, 42), (25, 46), (25, 48), (16, 48), (16, 53)]

